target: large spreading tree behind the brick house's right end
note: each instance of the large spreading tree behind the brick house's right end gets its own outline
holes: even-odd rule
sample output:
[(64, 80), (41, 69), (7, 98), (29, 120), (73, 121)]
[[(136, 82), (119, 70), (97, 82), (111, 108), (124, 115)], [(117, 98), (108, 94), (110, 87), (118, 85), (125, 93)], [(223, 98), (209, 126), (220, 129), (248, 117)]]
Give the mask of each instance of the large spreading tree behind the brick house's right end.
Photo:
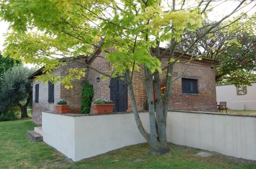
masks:
[[(210, 23), (206, 21), (204, 24)], [(255, 24), (247, 18), (220, 29), (224, 25), (225, 23), (222, 23), (215, 27), (216, 32), (201, 38), (198, 45), (189, 52), (194, 50), (197, 55), (219, 62), (216, 68), (217, 84), (251, 85), (251, 82), (256, 80), (253, 45)], [(186, 37), (187, 35), (184, 35), (183, 38)], [(186, 50), (196, 37), (194, 33), (193, 38), (181, 41), (177, 48), (180, 51)]]

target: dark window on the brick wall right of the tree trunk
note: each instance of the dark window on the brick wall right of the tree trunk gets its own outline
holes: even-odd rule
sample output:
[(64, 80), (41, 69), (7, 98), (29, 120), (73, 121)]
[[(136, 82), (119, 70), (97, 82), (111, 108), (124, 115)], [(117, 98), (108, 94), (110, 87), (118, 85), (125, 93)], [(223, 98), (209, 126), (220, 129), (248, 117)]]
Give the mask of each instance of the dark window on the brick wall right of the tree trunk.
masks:
[(197, 94), (196, 79), (182, 78), (182, 93), (183, 94)]

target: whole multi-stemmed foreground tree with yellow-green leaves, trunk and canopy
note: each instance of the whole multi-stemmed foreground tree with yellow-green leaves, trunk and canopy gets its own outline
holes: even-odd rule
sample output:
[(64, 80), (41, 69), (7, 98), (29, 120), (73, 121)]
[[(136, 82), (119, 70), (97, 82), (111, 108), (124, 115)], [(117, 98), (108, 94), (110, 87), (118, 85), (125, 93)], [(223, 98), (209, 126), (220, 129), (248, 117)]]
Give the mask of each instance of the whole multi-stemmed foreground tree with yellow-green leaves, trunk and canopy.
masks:
[[(161, 0), (4, 1), (0, 5), (0, 15), (11, 23), (12, 29), (7, 35), (5, 53), (11, 53), (12, 57), (26, 62), (45, 64), (46, 74), (37, 77), (38, 80), (61, 80), (62, 85), (70, 88), (73, 79), (85, 75), (84, 69), (70, 69), (64, 77), (51, 74), (52, 70), (65, 64), (59, 62), (58, 58), (89, 55), (95, 48), (100, 48), (106, 56), (93, 54), (93, 57), (111, 62), (111, 74), (101, 72), (87, 63), (82, 64), (109, 78), (124, 75), (122, 80), (127, 83), (140, 133), (150, 144), (151, 151), (166, 153), (169, 148), (165, 127), (174, 80), (174, 64), (201, 38), (212, 33), (216, 26), (232, 14), (240, 13), (241, 9), (252, 5), (252, 2), (238, 2), (219, 21), (202, 27), (202, 20), (207, 17), (207, 13), (221, 4), (211, 0), (189, 3), (176, 0), (167, 3)], [(232, 25), (244, 17), (245, 13), (238, 14), (223, 26)], [(37, 29), (37, 32), (33, 29)], [(200, 34), (187, 50), (175, 58), (174, 51), (186, 31)], [(169, 42), (169, 45), (160, 53), (160, 43), (163, 42)], [(163, 67), (161, 61), (164, 55), (168, 55), (168, 64)], [(200, 55), (193, 55), (191, 60), (200, 58)], [(145, 74), (150, 132), (143, 127), (138, 114), (133, 90), (135, 71), (144, 71)], [(160, 93), (161, 73), (165, 74), (166, 92), (163, 96)], [(153, 100), (153, 76), (156, 106)]]

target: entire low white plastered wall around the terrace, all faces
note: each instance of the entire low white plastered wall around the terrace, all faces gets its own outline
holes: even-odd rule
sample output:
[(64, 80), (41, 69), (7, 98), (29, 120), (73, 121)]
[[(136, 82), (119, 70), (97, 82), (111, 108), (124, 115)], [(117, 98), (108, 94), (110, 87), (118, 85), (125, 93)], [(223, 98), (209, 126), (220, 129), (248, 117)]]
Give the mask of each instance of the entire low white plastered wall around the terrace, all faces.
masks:
[[(149, 130), (148, 113), (140, 117)], [(145, 143), (133, 114), (95, 116), (42, 112), (44, 142), (74, 161), (124, 146)], [(167, 140), (256, 160), (256, 117), (205, 112), (168, 112)]]

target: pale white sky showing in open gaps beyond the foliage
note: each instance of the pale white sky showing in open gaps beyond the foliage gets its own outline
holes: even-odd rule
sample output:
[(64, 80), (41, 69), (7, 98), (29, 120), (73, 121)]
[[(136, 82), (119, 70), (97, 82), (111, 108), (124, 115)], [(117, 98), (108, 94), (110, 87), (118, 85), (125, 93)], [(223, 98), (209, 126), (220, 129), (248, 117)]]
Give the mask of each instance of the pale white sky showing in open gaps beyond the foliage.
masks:
[[(229, 14), (234, 7), (238, 4), (238, 1), (228, 1), (217, 8), (215, 8), (211, 13), (208, 14), (208, 17), (210, 20), (220, 20), (223, 18), (225, 15)], [(250, 6), (247, 6), (246, 8), (243, 9), (243, 11), (247, 11), (249, 8), (251, 8), (255, 3), (252, 3)], [(256, 9), (252, 9), (248, 14), (253, 14), (256, 12)], [(236, 16), (236, 14), (234, 14)], [(0, 50), (4, 49), (4, 42), (5, 42), (5, 37), (4, 34), (8, 32), (8, 26), (9, 23), (6, 21), (0, 21)], [(33, 67), (33, 65), (27, 64), (28, 67)]]

